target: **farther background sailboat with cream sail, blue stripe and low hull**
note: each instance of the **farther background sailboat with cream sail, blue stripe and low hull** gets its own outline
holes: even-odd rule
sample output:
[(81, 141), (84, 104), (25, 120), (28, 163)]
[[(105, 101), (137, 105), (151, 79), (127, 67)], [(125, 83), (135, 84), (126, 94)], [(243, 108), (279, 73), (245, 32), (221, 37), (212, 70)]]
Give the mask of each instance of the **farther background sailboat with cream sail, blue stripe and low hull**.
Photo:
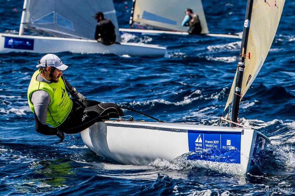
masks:
[[(187, 8), (191, 8), (199, 16), (202, 27), (201, 34), (239, 38), (238, 35), (209, 33), (201, 0), (133, 0), (130, 29), (119, 30), (122, 32), (142, 34), (188, 35), (189, 33), (187, 31), (189, 27), (181, 25), (185, 16), (185, 9)], [(135, 26), (135, 29), (132, 29), (132, 26)], [(136, 28), (142, 26), (149, 29)], [(157, 30), (151, 30), (150, 28), (156, 28)]]

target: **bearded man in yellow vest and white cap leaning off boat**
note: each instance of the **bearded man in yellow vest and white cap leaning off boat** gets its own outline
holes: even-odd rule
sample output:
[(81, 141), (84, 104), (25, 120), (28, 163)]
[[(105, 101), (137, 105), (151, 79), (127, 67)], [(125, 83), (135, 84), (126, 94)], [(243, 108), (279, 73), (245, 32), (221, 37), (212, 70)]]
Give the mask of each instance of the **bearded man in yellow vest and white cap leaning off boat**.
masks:
[(63, 141), (64, 133), (79, 133), (97, 121), (124, 116), (118, 105), (87, 100), (76, 91), (63, 77), (68, 66), (58, 56), (47, 54), (36, 67), (27, 96), (38, 133), (57, 135)]

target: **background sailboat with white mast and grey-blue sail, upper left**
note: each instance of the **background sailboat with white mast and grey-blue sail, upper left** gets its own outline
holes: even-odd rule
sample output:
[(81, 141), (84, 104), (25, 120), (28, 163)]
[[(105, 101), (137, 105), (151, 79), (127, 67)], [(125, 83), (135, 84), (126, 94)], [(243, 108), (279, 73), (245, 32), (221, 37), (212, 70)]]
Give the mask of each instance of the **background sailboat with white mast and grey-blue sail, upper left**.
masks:
[[(118, 43), (105, 46), (94, 40), (97, 22), (92, 16), (97, 11), (102, 11), (113, 22)], [(112, 0), (25, 0), (19, 35), (1, 33), (0, 46), (0, 53), (71, 51), (129, 56), (166, 54), (166, 48), (157, 45), (121, 43)]]

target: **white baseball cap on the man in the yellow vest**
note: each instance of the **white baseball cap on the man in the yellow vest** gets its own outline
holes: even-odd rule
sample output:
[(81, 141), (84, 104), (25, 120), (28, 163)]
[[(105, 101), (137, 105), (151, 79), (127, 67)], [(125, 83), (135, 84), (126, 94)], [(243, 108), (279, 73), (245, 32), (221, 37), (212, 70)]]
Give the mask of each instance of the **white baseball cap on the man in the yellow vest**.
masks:
[(36, 67), (55, 67), (59, 71), (65, 71), (68, 68), (68, 66), (63, 64), (60, 58), (58, 58), (55, 54), (46, 54), (43, 56), (40, 60), (40, 64), (36, 65)]

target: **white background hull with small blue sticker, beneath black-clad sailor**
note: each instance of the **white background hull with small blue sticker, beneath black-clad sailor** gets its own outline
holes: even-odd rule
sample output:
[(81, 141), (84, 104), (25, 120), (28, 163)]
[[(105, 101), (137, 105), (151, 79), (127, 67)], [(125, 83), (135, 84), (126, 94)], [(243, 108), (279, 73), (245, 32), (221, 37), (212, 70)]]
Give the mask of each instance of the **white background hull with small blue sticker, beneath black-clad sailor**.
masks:
[(113, 53), (119, 56), (165, 56), (165, 47), (143, 43), (114, 43), (106, 46), (96, 40), (27, 36), (0, 33), (0, 53), (32, 52)]

